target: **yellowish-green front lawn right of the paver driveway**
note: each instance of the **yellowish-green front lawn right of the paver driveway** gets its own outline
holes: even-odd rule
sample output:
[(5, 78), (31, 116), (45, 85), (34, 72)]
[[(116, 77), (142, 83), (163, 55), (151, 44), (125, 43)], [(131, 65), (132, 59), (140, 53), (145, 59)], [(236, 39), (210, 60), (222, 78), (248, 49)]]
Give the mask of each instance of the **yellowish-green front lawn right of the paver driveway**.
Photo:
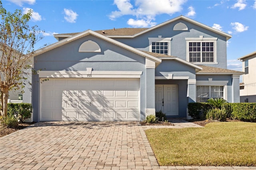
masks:
[(148, 129), (146, 135), (160, 166), (256, 166), (256, 123)]

